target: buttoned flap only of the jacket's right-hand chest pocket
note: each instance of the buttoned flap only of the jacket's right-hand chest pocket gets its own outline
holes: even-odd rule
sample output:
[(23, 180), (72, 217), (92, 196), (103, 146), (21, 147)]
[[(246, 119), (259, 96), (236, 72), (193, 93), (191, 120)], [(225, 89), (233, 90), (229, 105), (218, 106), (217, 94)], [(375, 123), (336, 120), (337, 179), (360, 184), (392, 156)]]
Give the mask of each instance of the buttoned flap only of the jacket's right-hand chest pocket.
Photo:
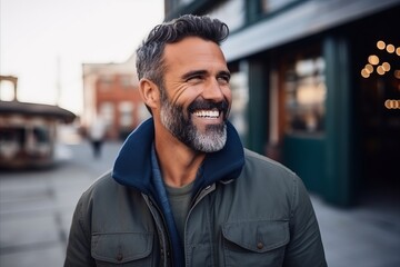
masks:
[(257, 220), (227, 222), (222, 227), (226, 239), (254, 253), (266, 253), (287, 245), (290, 239), (289, 221)]

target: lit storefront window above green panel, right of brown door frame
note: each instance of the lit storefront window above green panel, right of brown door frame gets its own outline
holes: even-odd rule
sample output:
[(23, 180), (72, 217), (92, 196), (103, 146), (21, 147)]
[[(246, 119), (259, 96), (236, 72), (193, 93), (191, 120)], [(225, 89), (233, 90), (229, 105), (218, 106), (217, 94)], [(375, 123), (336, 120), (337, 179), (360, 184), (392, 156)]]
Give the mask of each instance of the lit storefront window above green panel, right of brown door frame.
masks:
[(288, 67), (284, 79), (286, 131), (322, 132), (327, 95), (323, 58), (298, 59)]

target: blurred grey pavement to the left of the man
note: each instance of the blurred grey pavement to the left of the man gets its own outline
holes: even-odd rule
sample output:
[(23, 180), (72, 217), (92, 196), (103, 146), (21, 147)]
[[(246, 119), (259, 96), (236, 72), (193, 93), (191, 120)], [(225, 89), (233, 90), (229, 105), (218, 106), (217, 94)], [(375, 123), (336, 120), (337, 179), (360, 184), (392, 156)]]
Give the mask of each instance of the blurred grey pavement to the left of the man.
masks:
[(62, 146), (50, 170), (0, 172), (0, 266), (62, 266), (74, 205), (111, 168), (121, 144), (93, 159), (88, 144)]

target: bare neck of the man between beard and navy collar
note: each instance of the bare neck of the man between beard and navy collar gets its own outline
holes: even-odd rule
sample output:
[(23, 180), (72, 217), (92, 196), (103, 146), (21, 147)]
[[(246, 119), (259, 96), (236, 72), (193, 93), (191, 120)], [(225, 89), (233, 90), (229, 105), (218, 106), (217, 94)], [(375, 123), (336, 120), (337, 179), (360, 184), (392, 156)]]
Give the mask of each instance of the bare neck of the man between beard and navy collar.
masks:
[(164, 182), (170, 187), (182, 187), (196, 179), (206, 154), (194, 151), (173, 137), (156, 137), (156, 152)]

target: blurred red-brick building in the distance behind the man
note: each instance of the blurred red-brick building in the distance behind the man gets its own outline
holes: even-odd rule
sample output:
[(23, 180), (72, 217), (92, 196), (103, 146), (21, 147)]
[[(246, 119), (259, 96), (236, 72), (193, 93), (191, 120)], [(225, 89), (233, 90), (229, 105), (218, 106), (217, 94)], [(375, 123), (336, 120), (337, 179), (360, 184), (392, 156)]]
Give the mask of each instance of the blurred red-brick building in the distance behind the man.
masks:
[(134, 57), (122, 63), (83, 63), (82, 126), (97, 116), (107, 125), (107, 138), (124, 139), (149, 117), (138, 91)]

